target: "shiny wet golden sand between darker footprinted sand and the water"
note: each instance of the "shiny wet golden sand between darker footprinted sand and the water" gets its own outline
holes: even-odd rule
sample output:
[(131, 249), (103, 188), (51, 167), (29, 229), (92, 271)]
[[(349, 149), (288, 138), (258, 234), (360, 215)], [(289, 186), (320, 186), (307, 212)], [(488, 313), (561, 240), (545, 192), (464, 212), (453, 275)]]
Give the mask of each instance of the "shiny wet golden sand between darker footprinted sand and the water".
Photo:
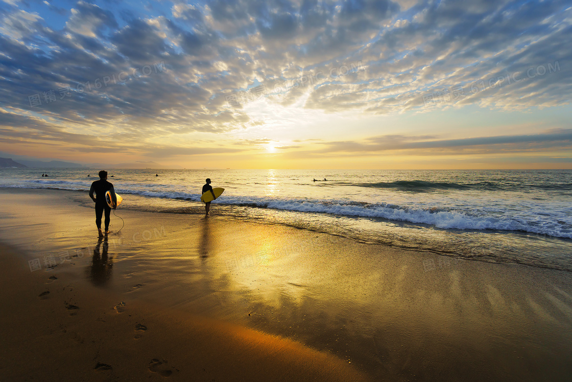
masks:
[[(47, 278), (55, 275), (69, 280), (74, 298), (93, 296), (97, 302), (103, 294), (117, 296), (102, 306), (117, 317), (125, 317), (132, 306), (153, 306), (174, 316), (226, 322), (234, 328), (231, 332), (253, 330), (335, 356), (352, 372), (373, 379), (570, 376), (572, 277), (565, 271), (453, 262), (216, 215), (202, 219), (130, 210), (121, 211), (125, 228), (108, 238), (108, 261), (102, 264), (94, 255), (93, 208), (78, 206), (76, 200), (86, 195), (1, 189), (0, 194), (0, 241), (27, 253), (18, 255), (20, 281), (27, 271), (35, 280), (28, 283), (41, 281), (34, 285), (46, 288)], [(112, 215), (112, 230), (114, 226), (121, 227), (121, 221)], [(104, 247), (101, 243), (100, 256)], [(53, 270), (27, 269), (34, 257), (66, 251), (70, 258)], [(14, 306), (18, 293), (3, 298)], [(30, 304), (46, 302), (55, 300), (52, 293), (50, 289), (47, 300), (38, 294), (27, 298)], [(67, 295), (58, 297), (76, 305)], [(118, 314), (113, 306), (121, 301), (128, 310)], [(61, 301), (57, 304), (65, 310)], [(155, 314), (156, 322), (165, 320)], [(16, 316), (10, 319), (27, 317)], [(157, 357), (165, 356), (152, 359)]]

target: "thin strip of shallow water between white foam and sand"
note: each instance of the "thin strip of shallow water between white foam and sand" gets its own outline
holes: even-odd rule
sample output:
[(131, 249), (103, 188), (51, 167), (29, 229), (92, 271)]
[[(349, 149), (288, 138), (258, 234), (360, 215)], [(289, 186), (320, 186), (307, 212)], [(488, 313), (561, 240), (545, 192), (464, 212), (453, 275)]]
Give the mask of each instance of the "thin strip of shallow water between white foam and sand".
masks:
[[(92, 207), (84, 191), (63, 188), (17, 188), (10, 190), (38, 190), (61, 192), (84, 207)], [(164, 196), (125, 194), (126, 200), (119, 211), (163, 212), (176, 215), (204, 215), (200, 202), (173, 199)], [(563, 270), (572, 273), (569, 253), (572, 239), (551, 237), (518, 230), (440, 229), (426, 223), (384, 218), (335, 215), (326, 212), (301, 212), (274, 207), (259, 207), (234, 204), (212, 205), (220, 219), (241, 220), (245, 223), (263, 223), (279, 227), (293, 227), (337, 235), (359, 243), (382, 245), (396, 250), (424, 251), (451, 258), (470, 259), (489, 263), (526, 265), (543, 269)], [(121, 213), (121, 212), (120, 212)], [(538, 256), (537, 254), (544, 254)]]

